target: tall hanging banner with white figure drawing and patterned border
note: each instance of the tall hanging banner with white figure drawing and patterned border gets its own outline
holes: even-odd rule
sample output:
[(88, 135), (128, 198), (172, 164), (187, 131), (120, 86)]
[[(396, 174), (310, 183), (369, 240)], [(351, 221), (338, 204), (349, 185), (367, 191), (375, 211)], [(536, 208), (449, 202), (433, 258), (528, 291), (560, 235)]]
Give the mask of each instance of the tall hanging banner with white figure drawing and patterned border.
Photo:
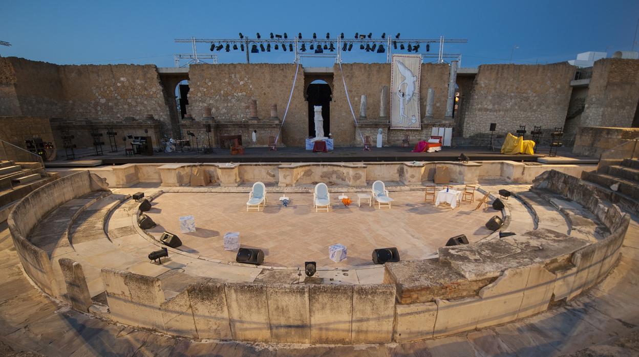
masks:
[(390, 67), (390, 128), (421, 129), (419, 80), (422, 55), (394, 54)]

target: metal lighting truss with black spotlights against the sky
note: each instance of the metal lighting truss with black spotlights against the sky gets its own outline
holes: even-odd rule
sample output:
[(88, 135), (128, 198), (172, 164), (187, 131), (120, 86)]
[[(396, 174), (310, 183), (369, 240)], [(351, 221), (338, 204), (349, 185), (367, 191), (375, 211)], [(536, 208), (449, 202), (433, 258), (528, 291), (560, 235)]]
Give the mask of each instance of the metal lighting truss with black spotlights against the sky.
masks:
[[(397, 52), (397, 48), (404, 45), (404, 48), (408, 47), (408, 45), (412, 45), (412, 47), (417, 47), (419, 50), (413, 51), (415, 54), (420, 53), (424, 57), (435, 57), (434, 52), (430, 52), (431, 44), (438, 44), (438, 52), (436, 53), (437, 63), (444, 63), (444, 58), (456, 58), (461, 57), (460, 55), (451, 55), (445, 54), (443, 52), (444, 43), (468, 43), (468, 40), (464, 39), (445, 39), (443, 36), (440, 38), (397, 38), (397, 36), (384, 36), (384, 38), (371, 38), (365, 35), (357, 36), (357, 38), (341, 38), (341, 36), (335, 36), (335, 38), (300, 38), (300, 36), (289, 36), (288, 38), (282, 38), (279, 35), (273, 36), (274, 38), (268, 38), (269, 36), (260, 36), (260, 38), (249, 38), (247, 36), (242, 36), (242, 38), (176, 38), (175, 42), (178, 43), (191, 43), (192, 51), (193, 51), (193, 60), (194, 63), (197, 62), (198, 55), (196, 49), (196, 43), (209, 43), (211, 45), (211, 49), (217, 49), (220, 51), (223, 45), (231, 45), (235, 49), (236, 47), (243, 47), (243, 52), (246, 54), (246, 63), (250, 63), (249, 53), (251, 52), (252, 45), (256, 45), (256, 47), (260, 48), (261, 46), (267, 46), (269, 44), (279, 45), (280, 47), (286, 46), (295, 49), (293, 52), (295, 54), (295, 59), (293, 63), (300, 63), (301, 57), (335, 57), (336, 63), (342, 62), (342, 52), (350, 52), (343, 50), (343, 44), (346, 43), (348, 49), (350, 49), (353, 43), (362, 45), (364, 48), (368, 47), (372, 49), (372, 45), (384, 45), (386, 52), (386, 62), (390, 63), (390, 59), (392, 58), (392, 52)], [(286, 36), (285, 36), (286, 37)], [(334, 50), (323, 50), (323, 52), (316, 52), (315, 50), (311, 50), (311, 45), (314, 47), (330, 45), (334, 43)], [(215, 46), (217, 44), (217, 47)], [(308, 49), (308, 52), (301, 52), (300, 47), (305, 45), (305, 48)], [(274, 46), (273, 46), (274, 47)], [(358, 46), (355, 46), (357, 48)], [(434, 47), (434, 46), (433, 46)], [(376, 50), (369, 50), (371, 53), (381, 53)], [(405, 50), (401, 50), (402, 53), (406, 52)], [(259, 52), (254, 52), (259, 53)], [(412, 53), (412, 52), (408, 52)], [(216, 62), (217, 63), (217, 62)]]

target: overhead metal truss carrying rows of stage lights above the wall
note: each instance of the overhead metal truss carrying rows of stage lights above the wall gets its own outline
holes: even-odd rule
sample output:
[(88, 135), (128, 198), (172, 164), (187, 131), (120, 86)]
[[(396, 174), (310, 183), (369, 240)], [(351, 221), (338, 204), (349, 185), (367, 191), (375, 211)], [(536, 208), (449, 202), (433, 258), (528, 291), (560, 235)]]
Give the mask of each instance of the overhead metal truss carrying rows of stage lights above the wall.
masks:
[[(369, 34), (370, 35), (370, 34)], [(315, 37), (315, 36), (314, 36)], [(293, 63), (300, 63), (301, 57), (335, 57), (336, 63), (342, 62), (342, 52), (350, 52), (354, 44), (360, 45), (360, 49), (366, 49), (367, 52), (381, 53), (386, 52), (386, 62), (390, 63), (392, 53), (397, 51), (405, 52), (404, 49), (408, 47), (408, 52), (411, 49), (415, 49), (414, 52), (420, 49), (421, 45), (424, 45), (427, 53), (421, 53), (423, 57), (437, 58), (437, 63), (443, 63), (444, 58), (454, 58), (461, 61), (461, 54), (446, 54), (443, 52), (444, 43), (468, 43), (468, 40), (459, 39), (445, 39), (443, 36), (440, 38), (392, 38), (392, 36), (384, 36), (383, 38), (370, 38), (364, 34), (357, 36), (357, 38), (343, 38), (339, 36), (337, 38), (301, 38), (298, 36), (293, 38), (282, 38), (281, 35), (275, 35), (274, 38), (248, 38), (242, 36), (242, 38), (176, 38), (175, 42), (191, 43), (192, 58), (190, 63), (201, 63), (197, 57), (196, 43), (210, 43), (211, 50), (215, 49), (215, 43), (219, 43), (217, 50), (222, 50), (226, 45), (226, 52), (230, 52), (242, 49), (246, 54), (246, 63), (250, 63), (250, 53), (264, 52), (268, 49), (270, 52), (271, 46), (273, 48), (277, 45), (282, 47), (282, 50), (294, 52), (295, 59)], [(430, 52), (430, 45), (438, 44), (438, 53)], [(336, 46), (335, 46), (336, 44)], [(383, 48), (385, 45), (385, 49)], [(320, 46), (321, 50), (318, 50)], [(330, 48), (329, 48), (330, 46)], [(372, 47), (371, 47), (372, 46)], [(377, 50), (375, 47), (379, 46)], [(312, 49), (315, 48), (315, 50)], [(292, 50), (292, 51), (291, 51)], [(305, 52), (309, 50), (309, 52)], [(326, 51), (326, 52), (325, 52)], [(176, 55), (177, 56), (177, 55)], [(217, 63), (217, 60), (215, 61)], [(176, 61), (176, 63), (178, 63)]]

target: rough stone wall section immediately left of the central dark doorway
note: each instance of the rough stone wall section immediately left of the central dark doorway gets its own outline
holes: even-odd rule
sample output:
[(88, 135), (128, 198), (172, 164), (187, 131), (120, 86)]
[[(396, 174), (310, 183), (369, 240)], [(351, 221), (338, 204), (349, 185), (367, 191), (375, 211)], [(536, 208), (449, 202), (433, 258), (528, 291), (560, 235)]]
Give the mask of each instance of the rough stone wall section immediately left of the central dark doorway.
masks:
[[(265, 63), (192, 65), (189, 68), (190, 114), (197, 119), (203, 118), (204, 108), (210, 107), (215, 119), (249, 119), (250, 101), (255, 99), (260, 119), (270, 118), (272, 104), (277, 104), (278, 116), (283, 119), (295, 68), (296, 65)], [(304, 100), (304, 72), (300, 66), (280, 141), (287, 146), (304, 146), (307, 136), (308, 108)]]

